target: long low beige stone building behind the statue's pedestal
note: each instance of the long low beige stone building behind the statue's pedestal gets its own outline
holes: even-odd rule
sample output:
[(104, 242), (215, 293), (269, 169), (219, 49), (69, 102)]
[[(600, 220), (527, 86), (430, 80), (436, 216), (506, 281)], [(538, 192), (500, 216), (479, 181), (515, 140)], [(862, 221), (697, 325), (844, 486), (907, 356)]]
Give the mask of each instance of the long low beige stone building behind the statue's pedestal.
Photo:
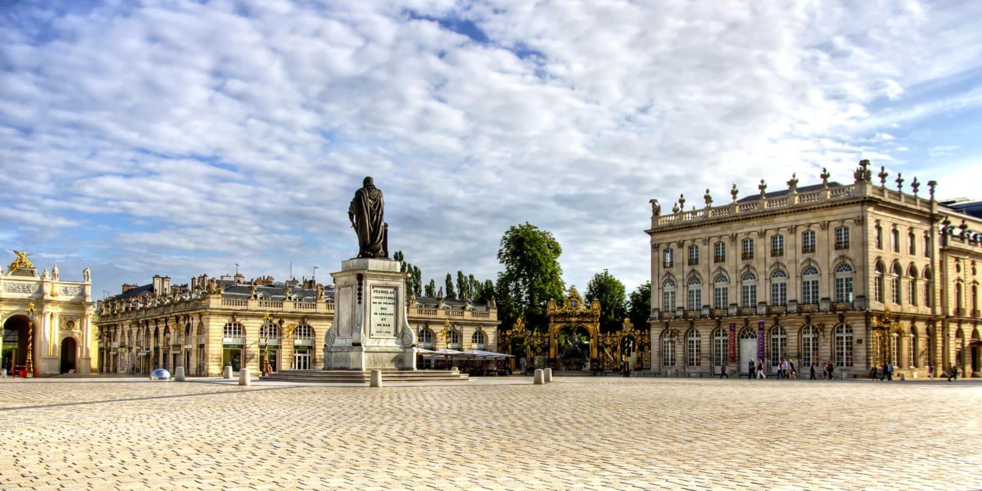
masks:
[[(494, 300), (409, 296), (408, 303), (420, 348), (497, 347)], [(273, 370), (319, 369), (334, 307), (333, 287), (312, 280), (202, 275), (172, 286), (169, 277), (154, 276), (147, 285), (123, 285), (120, 295), (98, 302), (98, 370), (149, 373), (184, 366), (191, 376), (215, 376), (226, 364), (260, 370), (263, 359)]]

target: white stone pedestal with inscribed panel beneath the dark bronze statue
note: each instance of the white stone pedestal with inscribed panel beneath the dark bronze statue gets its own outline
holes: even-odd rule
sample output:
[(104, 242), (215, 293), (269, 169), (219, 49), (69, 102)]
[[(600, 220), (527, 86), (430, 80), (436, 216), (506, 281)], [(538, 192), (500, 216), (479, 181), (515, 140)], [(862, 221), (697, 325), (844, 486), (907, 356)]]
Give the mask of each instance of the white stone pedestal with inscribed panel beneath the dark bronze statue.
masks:
[(334, 278), (334, 322), (324, 336), (325, 370), (416, 369), (399, 261), (358, 257)]

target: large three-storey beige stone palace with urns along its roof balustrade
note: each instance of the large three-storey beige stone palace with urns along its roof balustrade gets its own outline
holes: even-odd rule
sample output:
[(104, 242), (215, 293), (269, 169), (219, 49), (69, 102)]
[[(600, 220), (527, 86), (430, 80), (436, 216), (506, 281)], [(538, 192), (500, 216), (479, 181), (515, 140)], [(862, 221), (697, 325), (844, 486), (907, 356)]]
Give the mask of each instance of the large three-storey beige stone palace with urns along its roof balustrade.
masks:
[[(662, 215), (652, 199), (652, 369), (666, 375), (770, 372), (791, 358), (799, 376), (831, 360), (836, 376), (867, 376), (892, 361), (895, 376), (927, 376), (955, 363), (982, 372), (978, 203), (922, 196), (898, 175), (888, 186), (869, 162), (853, 183), (767, 191)], [(896, 185), (896, 186), (895, 186)], [(819, 373), (821, 369), (819, 368)]]

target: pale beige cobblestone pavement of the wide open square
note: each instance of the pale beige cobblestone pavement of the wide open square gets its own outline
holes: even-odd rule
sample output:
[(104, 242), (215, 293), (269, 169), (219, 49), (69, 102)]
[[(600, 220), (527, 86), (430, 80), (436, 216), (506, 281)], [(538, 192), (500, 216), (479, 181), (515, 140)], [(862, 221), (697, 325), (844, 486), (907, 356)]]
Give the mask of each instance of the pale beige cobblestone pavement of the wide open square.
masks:
[(0, 381), (0, 489), (979, 489), (982, 385)]

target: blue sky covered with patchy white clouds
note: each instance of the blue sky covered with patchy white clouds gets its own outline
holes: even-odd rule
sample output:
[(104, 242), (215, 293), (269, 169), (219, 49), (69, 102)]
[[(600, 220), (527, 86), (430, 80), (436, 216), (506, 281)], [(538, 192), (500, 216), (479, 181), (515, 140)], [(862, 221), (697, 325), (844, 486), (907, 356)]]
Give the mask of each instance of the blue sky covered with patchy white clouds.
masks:
[(980, 18), (900, 0), (3, 2), (0, 248), (65, 280), (90, 267), (95, 298), (236, 263), (329, 282), (372, 176), (424, 281), (494, 278), (528, 222), (563, 246), (567, 285), (606, 268), (630, 291), (651, 198), (723, 203), (823, 167), (847, 183), (863, 158), (982, 197)]

